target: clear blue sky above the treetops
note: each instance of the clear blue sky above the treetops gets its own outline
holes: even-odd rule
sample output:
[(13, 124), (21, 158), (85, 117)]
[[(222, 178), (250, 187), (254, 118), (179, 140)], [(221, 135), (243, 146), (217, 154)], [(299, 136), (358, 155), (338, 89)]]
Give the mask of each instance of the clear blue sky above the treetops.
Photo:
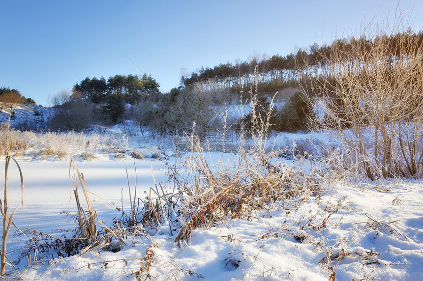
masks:
[[(288, 55), (335, 32), (356, 30), (397, 0), (0, 0), (0, 87), (38, 104), (87, 76), (143, 74), (162, 92), (183, 72)], [(413, 28), (422, 28), (423, 1), (401, 0)], [(135, 62), (137, 67), (129, 58)], [(140, 70), (141, 69), (141, 70)]]

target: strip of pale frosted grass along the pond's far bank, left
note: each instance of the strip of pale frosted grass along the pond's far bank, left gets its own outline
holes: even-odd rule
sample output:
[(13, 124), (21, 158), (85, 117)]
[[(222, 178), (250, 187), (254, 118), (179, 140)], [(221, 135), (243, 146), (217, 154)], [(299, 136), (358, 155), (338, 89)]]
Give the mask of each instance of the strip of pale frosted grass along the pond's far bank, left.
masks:
[[(172, 148), (172, 138), (157, 136), (126, 136), (119, 130), (108, 134), (84, 132), (33, 132), (9, 131), (9, 147), (14, 156), (29, 156), (33, 159), (83, 159), (91, 160), (96, 155), (117, 156), (131, 155), (131, 152), (151, 157), (156, 153), (165, 153)], [(0, 127), (0, 140), (6, 136), (6, 127)], [(4, 154), (4, 141), (0, 142), (0, 154)], [(119, 156), (118, 156), (119, 157)], [(163, 157), (166, 157), (163, 155)]]

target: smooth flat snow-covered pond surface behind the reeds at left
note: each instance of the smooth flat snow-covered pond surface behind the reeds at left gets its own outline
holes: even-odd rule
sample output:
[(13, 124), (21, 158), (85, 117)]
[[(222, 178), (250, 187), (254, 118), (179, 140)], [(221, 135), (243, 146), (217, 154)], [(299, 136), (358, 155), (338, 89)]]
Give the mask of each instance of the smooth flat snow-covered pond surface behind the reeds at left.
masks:
[[(8, 205), (10, 208), (20, 207), (15, 214), (14, 223), (31, 237), (31, 229), (51, 234), (55, 237), (65, 234), (72, 236), (75, 223), (76, 202), (71, 183), (68, 188), (69, 160), (37, 161), (28, 157), (18, 158), (24, 177), (24, 206), (21, 207), (21, 191), (19, 173), (15, 165), (10, 165), (8, 181)], [(121, 216), (117, 208), (129, 212), (129, 184), (135, 190), (135, 167), (137, 171), (138, 197), (144, 199), (150, 187), (154, 186), (152, 172), (158, 181), (165, 181), (162, 161), (118, 160), (115, 157), (97, 156), (90, 162), (76, 161), (90, 192), (90, 200), (97, 216), (106, 225), (113, 225), (112, 220)], [(134, 166), (135, 164), (135, 166)], [(151, 170), (153, 168), (153, 171)], [(71, 177), (74, 176), (73, 169)], [(141, 204), (142, 205), (142, 204)], [(19, 231), (9, 236), (7, 251), (18, 250), (25, 246), (26, 238)], [(16, 261), (17, 252), (10, 255)], [(41, 256), (41, 253), (40, 253)], [(26, 264), (26, 260), (21, 262)]]

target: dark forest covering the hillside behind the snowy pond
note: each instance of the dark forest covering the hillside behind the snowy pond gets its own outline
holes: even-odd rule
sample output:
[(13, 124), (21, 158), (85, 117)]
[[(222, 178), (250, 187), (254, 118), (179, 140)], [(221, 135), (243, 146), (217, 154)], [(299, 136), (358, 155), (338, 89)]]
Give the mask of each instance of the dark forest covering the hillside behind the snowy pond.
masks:
[[(157, 134), (174, 134), (190, 128), (193, 123), (200, 132), (222, 125), (216, 121), (217, 108), (240, 101), (243, 104), (258, 103), (258, 113), (263, 117), (269, 112), (273, 95), (278, 92), (273, 101), (271, 129), (288, 132), (305, 130), (313, 107), (310, 98), (319, 94), (334, 97), (333, 89), (345, 82), (345, 76), (337, 75), (331, 68), (335, 54), (347, 73), (363, 65), (371, 66), (375, 57), (373, 50), (380, 44), (383, 46), (380, 52), (387, 58), (382, 66), (385, 69), (384, 79), (392, 84), (389, 79), (393, 77), (390, 73), (395, 61), (406, 60), (408, 55), (420, 50), (422, 42), (423, 33), (415, 33), (411, 29), (372, 38), (364, 35), (340, 38), (328, 45), (313, 44), (308, 50), (299, 49), (286, 56), (253, 57), (248, 61), (202, 66), (198, 71), (182, 76), (180, 84), (167, 93), (161, 93), (159, 83), (147, 74), (115, 75), (107, 80), (104, 77), (87, 77), (76, 83), (72, 92), (61, 92), (52, 97), (51, 104), (56, 109), (56, 115), (50, 118), (47, 126), (53, 130), (80, 131), (92, 125), (104, 128), (132, 120), (142, 132), (151, 130)], [(370, 71), (362, 70), (359, 75)], [(319, 87), (323, 93), (313, 90)], [(343, 87), (348, 88), (347, 85)], [(33, 102), (21, 97), (17, 90), (2, 88), (0, 98), (8, 95), (13, 95), (21, 103)], [(342, 111), (342, 99), (337, 97), (334, 101), (332, 109)], [(131, 106), (125, 107), (125, 104)], [(82, 113), (81, 109), (89, 113)], [(242, 116), (242, 120), (235, 121), (244, 121), (248, 125), (251, 114), (249, 112)], [(342, 113), (337, 115), (339, 117)], [(351, 126), (351, 118), (348, 118), (341, 122), (345, 127)], [(331, 122), (328, 120), (328, 123)]]

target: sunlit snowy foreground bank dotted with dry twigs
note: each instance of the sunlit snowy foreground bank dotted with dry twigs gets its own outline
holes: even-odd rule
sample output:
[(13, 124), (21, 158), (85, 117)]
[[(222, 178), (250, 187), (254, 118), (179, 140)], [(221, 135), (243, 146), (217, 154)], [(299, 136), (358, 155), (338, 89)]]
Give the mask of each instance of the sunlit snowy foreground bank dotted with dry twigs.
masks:
[[(87, 169), (105, 168), (87, 164), (80, 165), (87, 181)], [(123, 167), (117, 164), (116, 168)], [(150, 173), (147, 168), (139, 171), (147, 181)], [(110, 198), (120, 197), (125, 185), (121, 178), (115, 194), (107, 195)], [(100, 185), (87, 185), (101, 190)], [(98, 256), (89, 253), (56, 259), (50, 266), (36, 265), (26, 279), (134, 280), (131, 274), (140, 269), (146, 250), (151, 249), (153, 263), (145, 274), (152, 280), (323, 281), (332, 272), (328, 255), (336, 280), (419, 280), (423, 274), (422, 197), (423, 184), (417, 181), (337, 186), (297, 209), (262, 211), (248, 219), (193, 230), (183, 249), (164, 225), (157, 234), (136, 237), (135, 244), (128, 237), (128, 246), (118, 253), (100, 251)]]

